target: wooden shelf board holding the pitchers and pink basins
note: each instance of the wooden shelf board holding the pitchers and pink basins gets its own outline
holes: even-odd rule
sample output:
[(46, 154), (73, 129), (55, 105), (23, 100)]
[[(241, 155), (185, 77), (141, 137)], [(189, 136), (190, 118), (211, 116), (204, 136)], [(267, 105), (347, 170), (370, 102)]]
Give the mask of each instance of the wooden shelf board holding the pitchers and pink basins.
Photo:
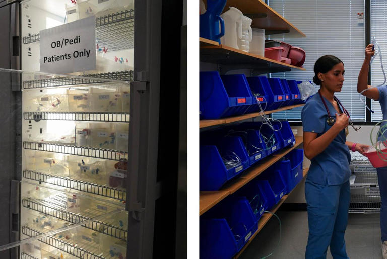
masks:
[[(203, 46), (200, 48), (201, 61), (216, 63), (221, 65), (235, 65), (243, 64), (257, 66), (261, 65), (262, 68), (278, 69), (280, 71), (289, 71), (289, 69), (296, 69), (306, 71), (306, 69), (298, 66), (288, 65), (277, 60), (266, 58), (253, 53), (248, 53), (243, 50), (234, 49), (229, 46)], [(211, 56), (211, 60), (202, 60), (203, 55)], [(217, 58), (214, 58), (217, 57)], [(281, 70), (283, 69), (283, 70)]]

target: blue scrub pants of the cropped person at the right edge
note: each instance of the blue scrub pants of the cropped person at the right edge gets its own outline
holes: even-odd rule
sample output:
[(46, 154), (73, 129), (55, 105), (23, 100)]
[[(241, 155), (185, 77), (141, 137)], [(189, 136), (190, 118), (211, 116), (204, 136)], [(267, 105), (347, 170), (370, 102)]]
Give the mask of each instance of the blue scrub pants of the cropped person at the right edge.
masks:
[(380, 230), (381, 241), (387, 241), (387, 167), (376, 168), (377, 180), (379, 182), (381, 208), (380, 208)]

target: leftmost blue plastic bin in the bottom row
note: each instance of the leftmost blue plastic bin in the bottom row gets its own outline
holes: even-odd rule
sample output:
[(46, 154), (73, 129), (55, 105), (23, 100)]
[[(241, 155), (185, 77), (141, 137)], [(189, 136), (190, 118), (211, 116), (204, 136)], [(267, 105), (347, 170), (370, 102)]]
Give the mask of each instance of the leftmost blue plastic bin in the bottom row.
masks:
[(258, 229), (246, 198), (233, 197), (218, 205), (201, 217), (200, 258), (231, 258)]

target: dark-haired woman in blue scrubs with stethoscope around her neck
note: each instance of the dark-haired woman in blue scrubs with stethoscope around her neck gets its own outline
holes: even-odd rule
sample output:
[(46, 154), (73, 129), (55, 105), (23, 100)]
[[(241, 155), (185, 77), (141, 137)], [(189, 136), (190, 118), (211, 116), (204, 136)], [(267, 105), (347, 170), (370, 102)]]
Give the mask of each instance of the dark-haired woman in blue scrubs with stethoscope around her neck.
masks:
[(314, 64), (313, 82), (320, 85), (302, 109), (305, 156), (311, 160), (305, 181), (309, 236), (306, 258), (348, 258), (344, 232), (350, 202), (349, 150), (364, 152), (367, 145), (346, 141), (348, 116), (334, 96), (344, 82), (344, 64), (326, 55)]

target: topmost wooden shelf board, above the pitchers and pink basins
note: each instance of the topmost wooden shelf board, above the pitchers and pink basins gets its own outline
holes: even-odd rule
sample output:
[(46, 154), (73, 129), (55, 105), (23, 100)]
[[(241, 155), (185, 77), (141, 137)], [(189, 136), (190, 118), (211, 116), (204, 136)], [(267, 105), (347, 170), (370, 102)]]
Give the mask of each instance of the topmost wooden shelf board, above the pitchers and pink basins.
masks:
[(255, 18), (252, 20), (251, 28), (261, 28), (268, 30), (289, 30), (289, 33), (275, 34), (276, 36), (285, 36), (289, 38), (306, 37), (304, 33), (298, 30), (293, 24), (278, 14), (273, 8), (258, 0), (227, 0), (222, 11), (226, 12), (228, 7), (236, 7), (243, 14), (266, 14), (265, 18)]

